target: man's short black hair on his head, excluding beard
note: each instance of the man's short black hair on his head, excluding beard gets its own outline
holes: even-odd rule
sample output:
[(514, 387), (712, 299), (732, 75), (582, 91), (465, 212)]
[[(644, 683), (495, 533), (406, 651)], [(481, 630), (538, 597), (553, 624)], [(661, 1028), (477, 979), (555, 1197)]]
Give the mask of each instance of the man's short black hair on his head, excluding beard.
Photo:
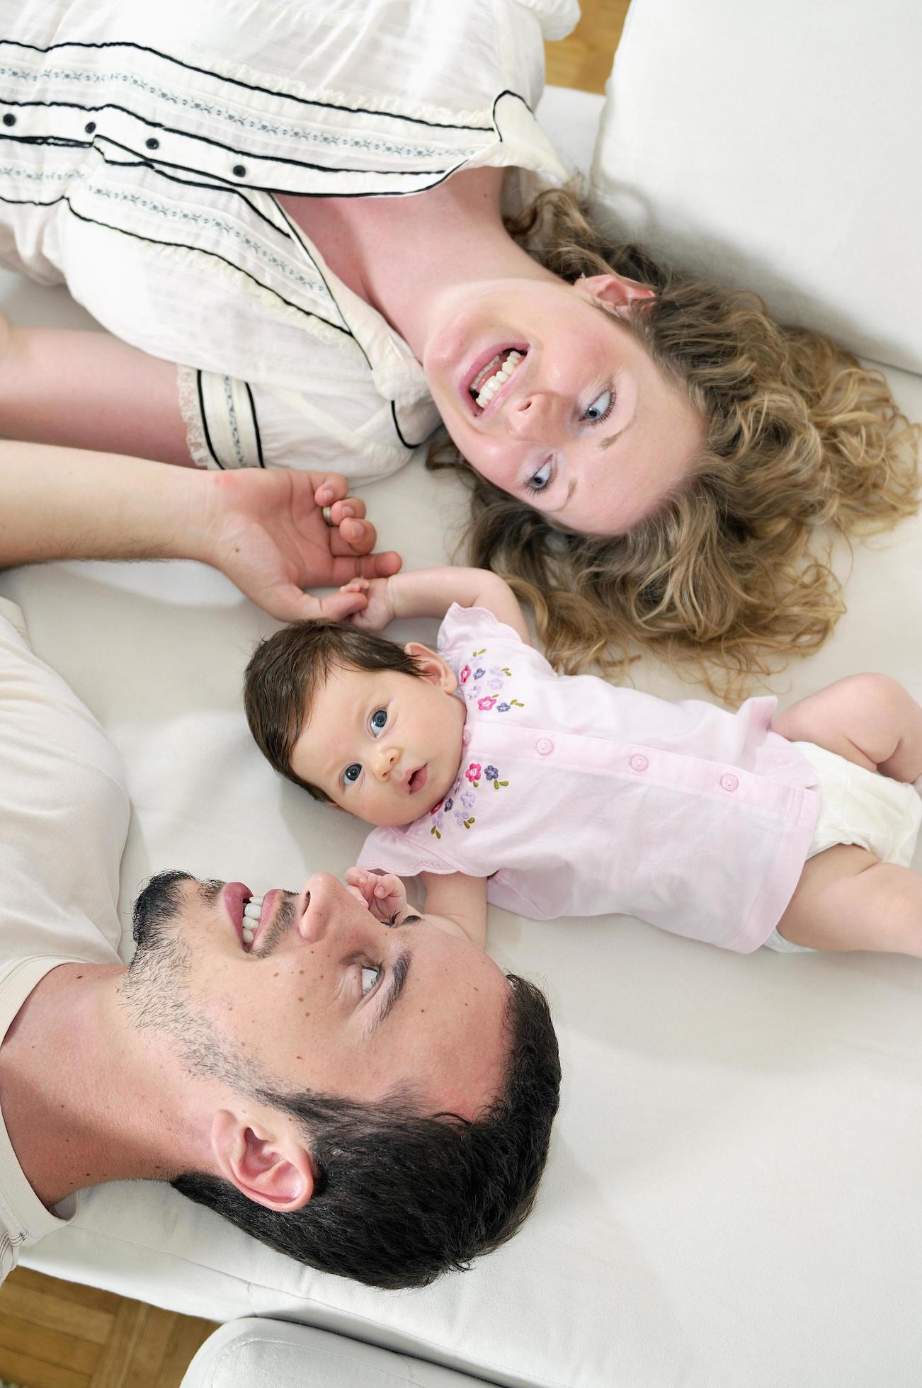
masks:
[(505, 1084), (476, 1119), (425, 1116), (400, 1099), (262, 1091), (262, 1102), (303, 1124), (319, 1174), (307, 1205), (268, 1210), (201, 1171), (172, 1184), (279, 1253), (369, 1287), (425, 1287), (465, 1270), (532, 1209), (560, 1097), (547, 999), (508, 979)]

